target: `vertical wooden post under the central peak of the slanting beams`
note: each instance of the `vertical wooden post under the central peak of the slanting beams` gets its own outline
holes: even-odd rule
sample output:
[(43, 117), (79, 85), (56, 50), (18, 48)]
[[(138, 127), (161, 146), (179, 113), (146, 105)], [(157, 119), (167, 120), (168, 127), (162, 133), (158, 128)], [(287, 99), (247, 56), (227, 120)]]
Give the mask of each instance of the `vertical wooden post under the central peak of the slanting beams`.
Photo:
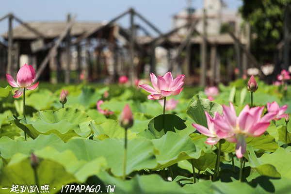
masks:
[(133, 16), (134, 12), (131, 10), (130, 12), (130, 36), (129, 36), (129, 79), (130, 84), (133, 85), (133, 79), (134, 79), (134, 64), (133, 64), (133, 58), (134, 58), (134, 24), (133, 24)]

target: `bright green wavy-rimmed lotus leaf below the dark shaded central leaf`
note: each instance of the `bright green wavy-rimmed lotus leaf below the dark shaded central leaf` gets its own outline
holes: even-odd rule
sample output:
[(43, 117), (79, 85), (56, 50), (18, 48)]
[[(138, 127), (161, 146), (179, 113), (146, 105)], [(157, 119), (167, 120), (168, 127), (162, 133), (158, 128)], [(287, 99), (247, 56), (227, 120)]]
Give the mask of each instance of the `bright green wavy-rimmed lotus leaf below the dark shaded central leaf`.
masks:
[(151, 141), (159, 150), (156, 155), (158, 165), (152, 170), (159, 170), (183, 160), (198, 159), (201, 155), (201, 152), (196, 152), (194, 142), (189, 136), (181, 137), (172, 131)]

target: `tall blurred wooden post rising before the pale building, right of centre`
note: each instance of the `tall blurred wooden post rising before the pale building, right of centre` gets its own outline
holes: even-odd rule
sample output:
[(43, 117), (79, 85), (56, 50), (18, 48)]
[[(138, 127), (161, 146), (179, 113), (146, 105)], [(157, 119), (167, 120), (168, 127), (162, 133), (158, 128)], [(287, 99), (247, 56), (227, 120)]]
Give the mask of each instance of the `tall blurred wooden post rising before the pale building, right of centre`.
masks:
[(206, 86), (206, 10), (203, 9), (203, 33), (202, 42), (200, 44), (200, 85)]

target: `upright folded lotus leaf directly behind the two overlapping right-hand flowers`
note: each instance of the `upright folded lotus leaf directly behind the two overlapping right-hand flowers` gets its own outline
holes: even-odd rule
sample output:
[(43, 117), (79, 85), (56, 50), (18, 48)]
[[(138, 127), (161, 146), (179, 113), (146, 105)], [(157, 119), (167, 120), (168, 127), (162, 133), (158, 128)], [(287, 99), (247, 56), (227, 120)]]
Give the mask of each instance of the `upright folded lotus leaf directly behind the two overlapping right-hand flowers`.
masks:
[(195, 123), (207, 127), (207, 119), (205, 111), (214, 117), (214, 112), (222, 113), (223, 107), (217, 102), (212, 102), (209, 99), (197, 99), (187, 109), (186, 114), (192, 118)]

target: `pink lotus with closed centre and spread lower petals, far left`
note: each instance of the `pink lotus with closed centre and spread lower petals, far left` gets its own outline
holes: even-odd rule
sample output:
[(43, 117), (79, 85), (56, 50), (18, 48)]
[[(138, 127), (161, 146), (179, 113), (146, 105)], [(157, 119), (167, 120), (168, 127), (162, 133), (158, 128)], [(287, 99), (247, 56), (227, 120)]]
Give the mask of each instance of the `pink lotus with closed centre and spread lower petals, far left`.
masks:
[(35, 71), (32, 65), (24, 64), (18, 71), (16, 76), (16, 81), (9, 74), (6, 74), (7, 80), (12, 87), (20, 88), (15, 91), (15, 95), (13, 97), (20, 97), (25, 88), (29, 90), (35, 90), (37, 88), (39, 81), (37, 81), (34, 85), (32, 83), (35, 80)]

